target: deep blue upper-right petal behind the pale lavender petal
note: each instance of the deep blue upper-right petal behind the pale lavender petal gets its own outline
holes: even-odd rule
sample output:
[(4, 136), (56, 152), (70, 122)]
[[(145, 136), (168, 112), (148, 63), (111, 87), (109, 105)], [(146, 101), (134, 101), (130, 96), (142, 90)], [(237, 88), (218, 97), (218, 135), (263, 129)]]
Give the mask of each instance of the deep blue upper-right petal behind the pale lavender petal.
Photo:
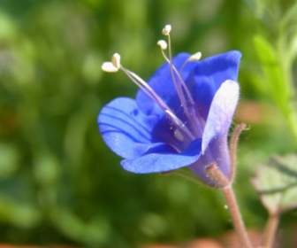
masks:
[(196, 66), (187, 79), (187, 86), (205, 120), (212, 98), (221, 84), (226, 80), (237, 81), (240, 58), (241, 53), (239, 51), (231, 50), (202, 59), (200, 62), (192, 62)]

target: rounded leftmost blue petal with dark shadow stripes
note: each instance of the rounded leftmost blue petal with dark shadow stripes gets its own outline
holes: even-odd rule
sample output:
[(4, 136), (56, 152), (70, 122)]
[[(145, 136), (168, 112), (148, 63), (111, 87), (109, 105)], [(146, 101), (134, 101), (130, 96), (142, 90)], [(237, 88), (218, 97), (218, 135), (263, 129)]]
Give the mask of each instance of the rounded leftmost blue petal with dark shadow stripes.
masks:
[(131, 98), (119, 97), (103, 107), (98, 125), (103, 140), (112, 151), (125, 159), (141, 156), (160, 145), (151, 142), (156, 116), (146, 116)]

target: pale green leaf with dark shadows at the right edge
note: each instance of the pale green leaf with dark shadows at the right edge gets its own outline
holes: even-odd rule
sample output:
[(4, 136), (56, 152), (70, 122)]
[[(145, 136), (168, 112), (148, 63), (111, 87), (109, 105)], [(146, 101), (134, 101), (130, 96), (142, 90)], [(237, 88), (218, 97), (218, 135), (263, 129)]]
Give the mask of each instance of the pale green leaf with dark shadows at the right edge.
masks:
[(297, 207), (297, 155), (273, 157), (258, 168), (253, 184), (271, 214)]

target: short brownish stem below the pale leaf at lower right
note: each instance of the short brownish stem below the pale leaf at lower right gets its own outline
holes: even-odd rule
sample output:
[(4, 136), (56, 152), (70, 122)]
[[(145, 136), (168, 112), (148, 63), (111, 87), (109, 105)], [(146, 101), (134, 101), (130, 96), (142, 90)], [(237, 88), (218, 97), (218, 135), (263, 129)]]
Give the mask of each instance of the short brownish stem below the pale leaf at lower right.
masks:
[(270, 217), (266, 224), (264, 237), (263, 237), (263, 247), (265, 248), (272, 247), (276, 236), (276, 232), (278, 229), (278, 222), (279, 222), (279, 214), (278, 213), (270, 214)]

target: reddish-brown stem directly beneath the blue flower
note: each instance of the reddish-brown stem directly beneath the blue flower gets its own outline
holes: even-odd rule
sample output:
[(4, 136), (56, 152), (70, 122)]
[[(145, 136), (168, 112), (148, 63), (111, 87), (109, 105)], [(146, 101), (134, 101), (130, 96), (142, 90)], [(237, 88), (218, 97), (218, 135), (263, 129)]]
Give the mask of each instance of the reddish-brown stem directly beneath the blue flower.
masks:
[(229, 185), (223, 188), (222, 191), (224, 193), (229, 212), (231, 213), (234, 228), (237, 232), (237, 235), (240, 237), (240, 242), (245, 248), (253, 248), (253, 245), (247, 236), (247, 229), (245, 228), (245, 225), (242, 221), (240, 209), (237, 204), (232, 186)]

